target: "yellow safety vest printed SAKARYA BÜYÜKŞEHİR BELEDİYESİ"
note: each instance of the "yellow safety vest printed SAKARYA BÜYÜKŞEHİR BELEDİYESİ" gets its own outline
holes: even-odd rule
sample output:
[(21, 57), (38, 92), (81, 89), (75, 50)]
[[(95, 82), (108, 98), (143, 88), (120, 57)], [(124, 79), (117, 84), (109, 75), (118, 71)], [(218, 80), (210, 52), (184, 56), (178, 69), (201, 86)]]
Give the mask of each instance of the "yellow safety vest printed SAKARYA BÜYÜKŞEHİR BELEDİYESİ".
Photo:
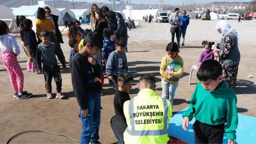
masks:
[(169, 100), (157, 96), (152, 89), (143, 89), (137, 97), (124, 102), (124, 116), (128, 125), (125, 144), (167, 144), (172, 116)]

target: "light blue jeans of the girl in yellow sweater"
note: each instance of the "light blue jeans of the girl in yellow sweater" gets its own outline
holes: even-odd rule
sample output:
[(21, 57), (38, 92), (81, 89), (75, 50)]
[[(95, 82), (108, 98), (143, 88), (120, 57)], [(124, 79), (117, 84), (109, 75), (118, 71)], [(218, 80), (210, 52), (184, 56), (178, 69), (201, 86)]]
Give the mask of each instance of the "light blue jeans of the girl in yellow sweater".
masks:
[[(165, 98), (167, 100), (170, 100), (170, 102), (172, 104), (173, 100), (174, 100), (175, 91), (178, 87), (178, 83), (169, 84), (163, 80), (161, 83), (162, 83), (162, 92), (163, 92), (161, 97)], [(172, 108), (173, 108), (173, 106), (172, 106)]]

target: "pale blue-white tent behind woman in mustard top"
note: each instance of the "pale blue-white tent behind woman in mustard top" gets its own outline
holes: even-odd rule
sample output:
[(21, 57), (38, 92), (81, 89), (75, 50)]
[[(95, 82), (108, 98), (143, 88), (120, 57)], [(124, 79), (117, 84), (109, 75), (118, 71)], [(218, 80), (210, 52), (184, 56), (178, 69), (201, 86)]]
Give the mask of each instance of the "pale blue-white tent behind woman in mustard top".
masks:
[(48, 4), (40, 4), (40, 5), (22, 5), (18, 8), (12, 8), (13, 11), (13, 15), (17, 16), (17, 15), (24, 15), (26, 17), (35, 17), (36, 18), (36, 12), (38, 7), (44, 8), (44, 7), (49, 7), (51, 9), (51, 14), (53, 15), (57, 15), (59, 16), (59, 19), (62, 19), (62, 14), (59, 10), (53, 8), (52, 6), (48, 5)]

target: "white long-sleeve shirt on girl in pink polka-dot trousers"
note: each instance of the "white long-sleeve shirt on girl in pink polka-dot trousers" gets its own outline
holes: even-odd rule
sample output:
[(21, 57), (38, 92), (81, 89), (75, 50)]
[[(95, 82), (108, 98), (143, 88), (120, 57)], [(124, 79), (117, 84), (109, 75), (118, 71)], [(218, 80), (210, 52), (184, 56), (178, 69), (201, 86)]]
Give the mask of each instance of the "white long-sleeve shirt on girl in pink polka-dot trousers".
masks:
[(20, 54), (20, 47), (17, 44), (15, 37), (9, 34), (0, 36), (0, 51), (1, 52), (14, 52)]

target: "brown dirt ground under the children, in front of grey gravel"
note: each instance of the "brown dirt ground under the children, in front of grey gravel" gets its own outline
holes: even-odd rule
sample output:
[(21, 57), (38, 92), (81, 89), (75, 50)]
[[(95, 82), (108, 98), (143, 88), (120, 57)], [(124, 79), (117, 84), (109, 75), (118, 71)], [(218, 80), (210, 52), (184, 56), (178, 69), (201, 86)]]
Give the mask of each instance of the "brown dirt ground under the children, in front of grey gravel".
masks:
[[(215, 41), (215, 43), (218, 40)], [(186, 48), (180, 49), (180, 56), (184, 60), (184, 74), (180, 79), (175, 93), (173, 112), (178, 112), (189, 106), (190, 96), (196, 86), (196, 71), (193, 71), (191, 84), (188, 85), (191, 66), (197, 64), (203, 48), (201, 41), (186, 42)], [(167, 41), (129, 43), (127, 53), (129, 74), (135, 79), (130, 97), (139, 92), (138, 80), (142, 74), (154, 74), (156, 76), (156, 94), (162, 94), (160, 79), (160, 63), (166, 55)], [(256, 117), (256, 82), (254, 78), (248, 78), (249, 74), (256, 76), (256, 50), (253, 44), (239, 43), (241, 62), (239, 64), (238, 81), (235, 92), (237, 94), (238, 112), (244, 115)], [(65, 53), (69, 60), (69, 53)], [(0, 61), (0, 143), (5, 143), (14, 134), (27, 130), (42, 130), (58, 134), (68, 135), (80, 140), (81, 120), (78, 117), (79, 106), (73, 93), (69, 66), (66, 70), (61, 68), (62, 92), (68, 97), (65, 100), (47, 99), (44, 89), (44, 76), (26, 72), (26, 58), (18, 59), (25, 76), (24, 90), (32, 92), (34, 96), (26, 100), (13, 98), (13, 89), (8, 73), (2, 61)], [(104, 90), (106, 96), (101, 97), (101, 124), (100, 142), (109, 144), (116, 142), (116, 138), (110, 126), (110, 119), (114, 116), (113, 97), (115, 90), (113, 85), (107, 84), (105, 76)], [(52, 82), (53, 94), (55, 83)], [(172, 122), (172, 120), (170, 121)], [(171, 129), (171, 127), (170, 127)], [(11, 144), (72, 144), (77, 143), (68, 138), (50, 135), (46, 133), (26, 133), (18, 136)]]

